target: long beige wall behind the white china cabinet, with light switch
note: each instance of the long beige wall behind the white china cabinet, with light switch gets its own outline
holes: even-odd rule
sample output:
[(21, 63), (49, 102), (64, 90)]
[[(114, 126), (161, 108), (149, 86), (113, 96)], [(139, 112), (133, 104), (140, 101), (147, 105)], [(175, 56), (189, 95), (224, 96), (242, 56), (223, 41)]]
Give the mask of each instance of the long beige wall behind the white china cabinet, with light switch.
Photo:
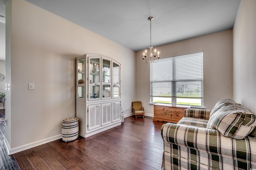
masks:
[[(75, 59), (80, 55), (100, 53), (121, 63), (122, 109), (131, 112), (134, 51), (24, 0), (9, 1), (6, 9), (11, 16), (6, 22), (11, 28), (6, 40), (11, 153), (60, 137), (62, 120), (76, 109)], [(28, 90), (28, 83), (34, 83), (34, 90)]]

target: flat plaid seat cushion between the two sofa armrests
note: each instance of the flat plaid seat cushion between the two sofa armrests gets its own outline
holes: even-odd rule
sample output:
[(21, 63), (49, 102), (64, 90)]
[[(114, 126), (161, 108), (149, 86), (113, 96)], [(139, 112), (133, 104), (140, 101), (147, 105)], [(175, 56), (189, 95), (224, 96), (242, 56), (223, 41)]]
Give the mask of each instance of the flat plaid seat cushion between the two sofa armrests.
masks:
[(197, 127), (207, 127), (208, 119), (200, 119), (200, 118), (193, 118), (193, 117), (182, 117), (178, 124), (183, 125), (193, 125)]

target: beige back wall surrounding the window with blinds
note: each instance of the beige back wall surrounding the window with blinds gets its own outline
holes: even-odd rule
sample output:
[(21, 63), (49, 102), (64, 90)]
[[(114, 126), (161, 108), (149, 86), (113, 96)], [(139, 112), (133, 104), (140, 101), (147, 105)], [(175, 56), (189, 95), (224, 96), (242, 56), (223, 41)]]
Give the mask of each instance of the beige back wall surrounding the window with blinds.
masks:
[[(232, 99), (232, 30), (200, 36), (158, 47), (160, 57), (204, 52), (204, 107), (212, 109), (220, 99)], [(154, 44), (153, 44), (154, 45)], [(153, 115), (150, 102), (150, 65), (136, 52), (136, 99)]]

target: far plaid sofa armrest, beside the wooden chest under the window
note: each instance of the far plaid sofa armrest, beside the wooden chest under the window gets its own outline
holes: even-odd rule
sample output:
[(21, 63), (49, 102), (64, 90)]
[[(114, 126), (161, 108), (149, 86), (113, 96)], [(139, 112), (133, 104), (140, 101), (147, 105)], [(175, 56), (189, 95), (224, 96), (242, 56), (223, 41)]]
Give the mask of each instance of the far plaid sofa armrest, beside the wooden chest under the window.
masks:
[(184, 117), (209, 119), (211, 110), (188, 108), (184, 110)]

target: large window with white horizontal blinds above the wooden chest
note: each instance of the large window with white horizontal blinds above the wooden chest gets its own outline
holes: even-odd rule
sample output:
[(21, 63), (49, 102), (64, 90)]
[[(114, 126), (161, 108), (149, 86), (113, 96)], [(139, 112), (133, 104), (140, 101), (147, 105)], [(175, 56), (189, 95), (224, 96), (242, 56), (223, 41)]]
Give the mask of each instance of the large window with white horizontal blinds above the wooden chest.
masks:
[(150, 64), (150, 102), (203, 106), (203, 53)]

